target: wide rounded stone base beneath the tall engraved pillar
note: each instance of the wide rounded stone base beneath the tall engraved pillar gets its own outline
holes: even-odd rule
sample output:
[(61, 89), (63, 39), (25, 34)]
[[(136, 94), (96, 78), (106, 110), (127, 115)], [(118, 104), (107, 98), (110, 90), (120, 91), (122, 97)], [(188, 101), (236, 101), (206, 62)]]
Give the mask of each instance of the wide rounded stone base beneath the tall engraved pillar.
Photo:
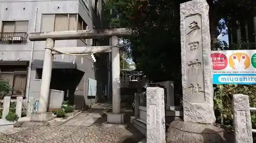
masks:
[[(219, 132), (222, 131), (222, 132)], [(217, 133), (219, 132), (219, 133)], [(233, 143), (227, 128), (212, 124), (174, 121), (166, 132), (166, 143)]]

